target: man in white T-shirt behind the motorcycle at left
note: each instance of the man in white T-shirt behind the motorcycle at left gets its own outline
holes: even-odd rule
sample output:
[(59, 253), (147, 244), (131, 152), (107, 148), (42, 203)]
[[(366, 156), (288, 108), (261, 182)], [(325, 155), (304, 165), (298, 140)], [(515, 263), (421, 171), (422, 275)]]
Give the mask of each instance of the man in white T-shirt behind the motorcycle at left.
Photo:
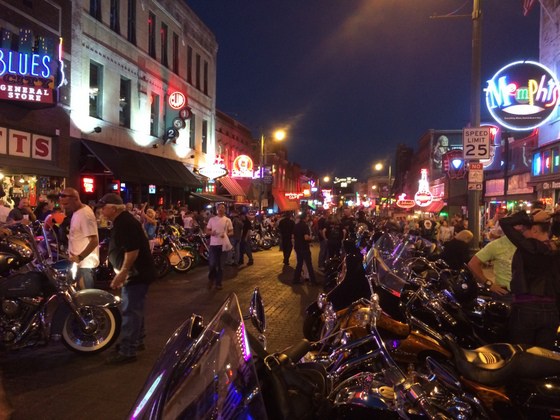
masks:
[(77, 278), (82, 289), (93, 289), (94, 269), (99, 265), (99, 233), (91, 207), (80, 200), (74, 188), (65, 188), (59, 195), (60, 205), (72, 213), (68, 233), (68, 259), (78, 264)]

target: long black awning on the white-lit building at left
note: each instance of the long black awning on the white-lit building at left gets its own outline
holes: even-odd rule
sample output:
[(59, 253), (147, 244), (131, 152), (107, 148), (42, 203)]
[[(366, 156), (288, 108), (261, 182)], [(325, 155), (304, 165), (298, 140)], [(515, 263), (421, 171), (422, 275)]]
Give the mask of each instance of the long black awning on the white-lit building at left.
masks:
[(172, 187), (202, 186), (179, 161), (89, 140), (82, 140), (82, 143), (115, 179)]

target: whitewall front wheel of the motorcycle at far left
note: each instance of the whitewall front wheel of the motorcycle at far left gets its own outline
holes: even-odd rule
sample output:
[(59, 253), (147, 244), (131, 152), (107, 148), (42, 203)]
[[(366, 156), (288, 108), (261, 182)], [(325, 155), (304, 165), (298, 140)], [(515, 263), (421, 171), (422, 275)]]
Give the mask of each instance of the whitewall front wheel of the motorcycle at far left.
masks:
[(121, 332), (121, 313), (118, 308), (86, 306), (80, 308), (87, 327), (68, 313), (62, 328), (62, 342), (76, 353), (96, 354), (107, 350)]

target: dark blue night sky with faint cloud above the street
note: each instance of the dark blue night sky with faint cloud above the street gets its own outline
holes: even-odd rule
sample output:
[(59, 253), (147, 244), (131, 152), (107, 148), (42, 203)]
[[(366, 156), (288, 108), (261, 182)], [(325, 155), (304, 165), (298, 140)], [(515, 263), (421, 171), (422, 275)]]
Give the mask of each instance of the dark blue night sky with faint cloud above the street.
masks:
[[(471, 19), (430, 16), (470, 15), (472, 0), (186, 1), (219, 44), (217, 107), (255, 137), (289, 127), (288, 158), (319, 175), (365, 177), (397, 144), (469, 121)], [(481, 5), (484, 87), (538, 60), (540, 6)]]

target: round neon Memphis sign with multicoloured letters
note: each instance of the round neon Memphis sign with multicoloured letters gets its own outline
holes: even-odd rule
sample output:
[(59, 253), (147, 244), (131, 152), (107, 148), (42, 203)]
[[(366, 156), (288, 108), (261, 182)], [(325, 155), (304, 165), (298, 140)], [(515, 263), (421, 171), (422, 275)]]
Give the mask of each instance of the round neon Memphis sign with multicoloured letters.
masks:
[(544, 124), (558, 105), (558, 80), (534, 61), (517, 61), (488, 80), (486, 106), (492, 117), (511, 130), (532, 130)]

